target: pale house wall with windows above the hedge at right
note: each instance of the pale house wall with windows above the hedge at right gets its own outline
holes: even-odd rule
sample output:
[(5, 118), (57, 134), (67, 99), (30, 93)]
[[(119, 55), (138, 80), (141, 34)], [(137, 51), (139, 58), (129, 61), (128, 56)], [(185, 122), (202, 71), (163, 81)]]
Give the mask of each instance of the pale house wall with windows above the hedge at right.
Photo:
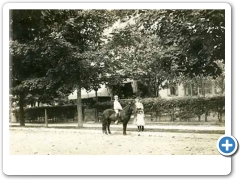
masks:
[(186, 96), (215, 96), (221, 93), (222, 90), (215, 86), (214, 81), (205, 82), (203, 86), (186, 85), (180, 83), (175, 86), (159, 90), (159, 96), (162, 98)]

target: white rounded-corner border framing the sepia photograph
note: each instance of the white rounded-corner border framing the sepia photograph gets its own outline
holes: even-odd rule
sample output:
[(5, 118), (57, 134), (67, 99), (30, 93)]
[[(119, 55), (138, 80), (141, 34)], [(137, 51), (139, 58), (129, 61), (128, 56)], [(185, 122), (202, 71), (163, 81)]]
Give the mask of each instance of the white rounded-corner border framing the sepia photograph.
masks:
[(6, 175), (228, 175), (231, 172), (231, 157), (222, 155), (10, 155), (9, 9), (225, 9), (225, 135), (231, 135), (231, 6), (229, 4), (7, 3), (3, 6), (3, 172)]

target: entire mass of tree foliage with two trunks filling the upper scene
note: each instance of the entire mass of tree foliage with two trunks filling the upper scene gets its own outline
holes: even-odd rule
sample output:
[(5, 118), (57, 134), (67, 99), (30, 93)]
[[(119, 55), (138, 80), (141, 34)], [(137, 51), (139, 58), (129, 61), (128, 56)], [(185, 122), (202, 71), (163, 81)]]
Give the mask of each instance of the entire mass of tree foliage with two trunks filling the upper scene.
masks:
[[(114, 86), (131, 78), (158, 96), (165, 81), (217, 78), (223, 73), (218, 62), (225, 63), (224, 10), (10, 13), (11, 93), (19, 96), (22, 112), (29, 93), (54, 99), (75, 89), (97, 90), (101, 83)], [(106, 36), (116, 22), (125, 25)]]

